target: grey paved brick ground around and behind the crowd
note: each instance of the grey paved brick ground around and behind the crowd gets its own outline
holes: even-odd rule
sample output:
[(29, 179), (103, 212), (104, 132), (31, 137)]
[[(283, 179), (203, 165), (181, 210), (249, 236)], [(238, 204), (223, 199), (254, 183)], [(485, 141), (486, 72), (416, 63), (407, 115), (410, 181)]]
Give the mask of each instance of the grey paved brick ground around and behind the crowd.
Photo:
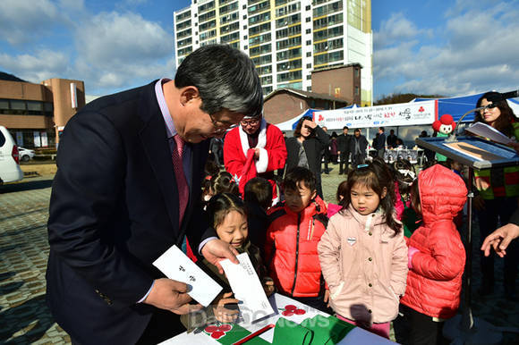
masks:
[[(338, 166), (323, 174), (325, 199), (335, 202), (336, 186), (343, 180)], [(52, 175), (25, 179), (0, 187), (0, 343), (66, 343), (70, 338), (54, 323), (45, 303), (47, 216)], [(474, 242), (478, 242), (477, 223)], [(473, 283), (479, 286), (479, 250), (474, 243)], [(496, 277), (502, 279), (502, 260)], [(476, 290), (475, 288), (472, 290)], [(487, 298), (472, 293), (475, 316), (496, 326), (519, 328), (519, 304), (503, 298), (498, 282)], [(519, 334), (506, 332), (506, 344), (518, 344)]]

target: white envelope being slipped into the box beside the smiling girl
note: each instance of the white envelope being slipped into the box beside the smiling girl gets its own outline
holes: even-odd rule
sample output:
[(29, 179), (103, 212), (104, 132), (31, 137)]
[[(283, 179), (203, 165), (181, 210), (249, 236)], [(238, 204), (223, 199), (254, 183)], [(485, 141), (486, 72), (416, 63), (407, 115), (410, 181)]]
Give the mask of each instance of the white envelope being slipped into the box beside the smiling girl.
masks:
[(228, 259), (221, 261), (220, 264), (234, 292), (234, 299), (242, 301), (242, 304), (238, 304), (242, 317), (247, 316), (247, 321), (252, 322), (274, 314), (274, 309), (268, 302), (265, 290), (247, 253), (242, 253), (236, 258), (240, 261), (240, 265), (233, 264)]

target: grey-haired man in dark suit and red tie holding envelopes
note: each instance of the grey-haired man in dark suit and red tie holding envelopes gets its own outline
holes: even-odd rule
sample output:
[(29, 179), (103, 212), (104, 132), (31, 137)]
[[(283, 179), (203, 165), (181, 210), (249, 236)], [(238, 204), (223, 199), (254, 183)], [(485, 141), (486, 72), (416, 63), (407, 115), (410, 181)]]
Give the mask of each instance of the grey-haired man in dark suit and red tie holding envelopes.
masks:
[(98, 98), (72, 117), (57, 155), (47, 265), (47, 302), (72, 342), (148, 344), (183, 332), (178, 315), (200, 306), (152, 263), (173, 245), (213, 265), (237, 263), (200, 216), (200, 182), (208, 139), (262, 105), (251, 59), (215, 45), (188, 55), (174, 80)]

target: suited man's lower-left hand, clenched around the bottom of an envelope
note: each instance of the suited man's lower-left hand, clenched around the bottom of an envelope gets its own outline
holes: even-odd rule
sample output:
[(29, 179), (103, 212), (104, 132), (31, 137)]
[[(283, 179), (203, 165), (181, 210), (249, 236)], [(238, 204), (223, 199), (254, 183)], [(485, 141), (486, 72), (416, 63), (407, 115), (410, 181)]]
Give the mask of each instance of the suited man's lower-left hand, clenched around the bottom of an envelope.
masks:
[(167, 278), (155, 281), (144, 303), (151, 306), (166, 309), (174, 314), (183, 315), (200, 310), (200, 304), (188, 304), (191, 297), (187, 294), (187, 285), (184, 282), (176, 282)]

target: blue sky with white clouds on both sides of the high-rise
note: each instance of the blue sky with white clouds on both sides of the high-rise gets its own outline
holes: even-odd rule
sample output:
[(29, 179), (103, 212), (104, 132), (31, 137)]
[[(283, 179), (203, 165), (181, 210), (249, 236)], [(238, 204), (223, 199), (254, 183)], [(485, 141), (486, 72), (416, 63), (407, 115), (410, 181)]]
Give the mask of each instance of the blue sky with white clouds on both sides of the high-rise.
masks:
[[(98, 96), (174, 76), (189, 0), (1, 0), (0, 71)], [(519, 88), (519, 0), (372, 0), (375, 99)]]

